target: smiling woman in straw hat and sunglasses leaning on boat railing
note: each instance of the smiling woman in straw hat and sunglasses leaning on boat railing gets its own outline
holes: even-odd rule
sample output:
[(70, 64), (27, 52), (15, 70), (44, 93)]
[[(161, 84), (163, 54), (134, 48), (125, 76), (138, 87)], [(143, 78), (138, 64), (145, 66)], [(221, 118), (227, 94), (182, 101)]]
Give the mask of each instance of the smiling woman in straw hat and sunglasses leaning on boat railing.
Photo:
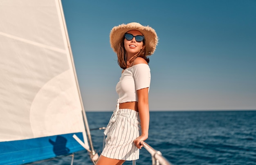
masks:
[(104, 134), (106, 145), (96, 165), (121, 165), (139, 158), (141, 141), (148, 138), (148, 90), (150, 68), (148, 56), (157, 46), (155, 30), (132, 22), (115, 26), (110, 44), (123, 69), (116, 90), (119, 95)]

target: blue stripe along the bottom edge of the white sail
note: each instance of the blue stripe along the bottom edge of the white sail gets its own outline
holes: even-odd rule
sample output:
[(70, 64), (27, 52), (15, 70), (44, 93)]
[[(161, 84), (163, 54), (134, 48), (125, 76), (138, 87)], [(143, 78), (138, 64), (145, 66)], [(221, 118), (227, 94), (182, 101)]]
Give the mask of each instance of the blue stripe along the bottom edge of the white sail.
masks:
[(85, 150), (72, 136), (83, 141), (82, 132), (35, 139), (0, 142), (0, 165), (19, 165)]

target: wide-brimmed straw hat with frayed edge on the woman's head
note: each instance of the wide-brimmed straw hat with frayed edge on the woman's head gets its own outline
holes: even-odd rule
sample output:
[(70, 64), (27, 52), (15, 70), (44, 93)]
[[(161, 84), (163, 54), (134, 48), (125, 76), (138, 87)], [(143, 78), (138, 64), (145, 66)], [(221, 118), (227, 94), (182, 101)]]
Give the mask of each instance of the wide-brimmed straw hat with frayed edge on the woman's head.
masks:
[(155, 48), (158, 43), (157, 33), (150, 26), (142, 26), (137, 22), (121, 24), (119, 26), (113, 27), (113, 29), (110, 32), (110, 45), (114, 52), (117, 53), (119, 43), (123, 42), (122, 39), (124, 37), (124, 34), (130, 30), (140, 31), (144, 35), (146, 55), (152, 55), (155, 52)]

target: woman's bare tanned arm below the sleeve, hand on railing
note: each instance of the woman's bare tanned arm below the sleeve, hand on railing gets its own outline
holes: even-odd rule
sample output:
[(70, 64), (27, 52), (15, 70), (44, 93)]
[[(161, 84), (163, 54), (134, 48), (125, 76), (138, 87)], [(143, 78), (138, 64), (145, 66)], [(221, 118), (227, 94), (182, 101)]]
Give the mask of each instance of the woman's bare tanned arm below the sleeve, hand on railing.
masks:
[(141, 141), (148, 139), (149, 128), (149, 106), (148, 106), (148, 88), (137, 90), (138, 96), (138, 110), (141, 124), (141, 136), (137, 137), (134, 141), (135, 145), (141, 149)]

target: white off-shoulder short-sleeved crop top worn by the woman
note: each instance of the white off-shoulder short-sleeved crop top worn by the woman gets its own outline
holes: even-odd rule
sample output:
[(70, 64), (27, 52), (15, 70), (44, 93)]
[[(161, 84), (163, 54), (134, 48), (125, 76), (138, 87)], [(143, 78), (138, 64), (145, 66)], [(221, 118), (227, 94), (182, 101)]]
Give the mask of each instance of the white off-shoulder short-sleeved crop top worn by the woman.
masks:
[(119, 99), (117, 103), (138, 101), (137, 91), (150, 86), (150, 68), (148, 64), (136, 64), (124, 70), (116, 86)]

